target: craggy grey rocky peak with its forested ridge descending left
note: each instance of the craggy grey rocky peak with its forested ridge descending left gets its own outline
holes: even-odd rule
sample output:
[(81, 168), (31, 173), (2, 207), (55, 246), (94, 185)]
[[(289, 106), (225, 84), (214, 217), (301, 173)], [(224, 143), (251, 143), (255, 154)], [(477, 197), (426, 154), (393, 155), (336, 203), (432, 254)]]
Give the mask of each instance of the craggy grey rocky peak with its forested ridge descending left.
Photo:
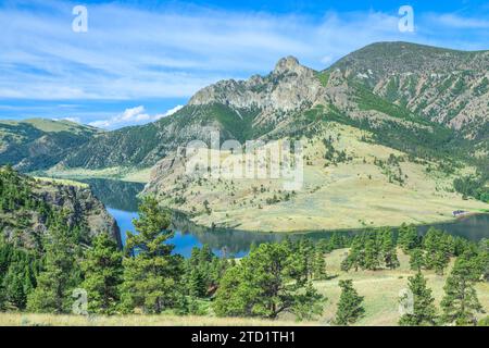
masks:
[[(314, 71), (292, 58), (284, 59), (266, 77), (217, 83), (199, 91), (188, 105), (168, 117), (97, 136), (67, 156), (63, 164), (89, 169), (151, 166), (178, 146), (208, 139), (204, 127), (220, 130), (223, 140), (253, 139), (272, 130), (279, 117), (286, 117), (275, 111), (292, 112), (302, 103), (305, 109), (321, 88)], [(291, 92), (292, 100), (287, 97)]]

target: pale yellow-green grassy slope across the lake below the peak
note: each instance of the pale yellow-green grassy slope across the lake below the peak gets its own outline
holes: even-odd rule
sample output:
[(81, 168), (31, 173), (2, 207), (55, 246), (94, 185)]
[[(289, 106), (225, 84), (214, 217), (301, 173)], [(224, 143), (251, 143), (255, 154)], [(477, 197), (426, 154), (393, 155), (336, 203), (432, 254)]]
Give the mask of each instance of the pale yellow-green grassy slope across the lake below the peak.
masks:
[[(339, 140), (337, 135), (340, 135)], [(329, 135), (335, 139), (338, 151), (347, 151), (353, 159), (337, 166), (324, 160), (323, 138)], [(346, 125), (330, 123), (306, 145), (304, 161), (304, 186), (289, 201), (273, 204), (266, 199), (277, 196), (284, 198), (283, 183), (269, 179), (196, 181), (188, 184), (181, 179), (184, 170), (175, 167), (164, 181), (164, 187), (158, 188), (164, 203), (183, 211), (195, 213), (193, 221), (201, 225), (237, 227), (247, 231), (311, 231), (361, 228), (365, 226), (396, 226), (401, 223), (424, 224), (452, 220), (452, 211), (462, 209), (479, 211), (489, 206), (475, 200), (463, 200), (452, 192), (453, 176), (434, 169), (426, 172), (425, 164), (400, 162), (405, 184), (389, 183), (388, 173), (374, 161), (387, 161), (390, 154), (403, 156), (391, 148), (362, 140), (366, 132)], [(406, 157), (405, 157), (406, 158)], [(365, 159), (365, 162), (364, 162)], [(327, 164), (327, 166), (325, 166)], [(391, 166), (391, 172), (399, 167)], [(459, 174), (471, 169), (459, 170)], [(253, 192), (253, 187), (266, 189)], [(268, 191), (269, 189), (269, 191)], [(183, 196), (184, 204), (174, 202)], [(211, 214), (204, 211), (208, 200)], [(236, 201), (236, 202), (235, 202)], [(260, 207), (262, 209), (260, 209)], [(193, 210), (195, 208), (195, 210)]]

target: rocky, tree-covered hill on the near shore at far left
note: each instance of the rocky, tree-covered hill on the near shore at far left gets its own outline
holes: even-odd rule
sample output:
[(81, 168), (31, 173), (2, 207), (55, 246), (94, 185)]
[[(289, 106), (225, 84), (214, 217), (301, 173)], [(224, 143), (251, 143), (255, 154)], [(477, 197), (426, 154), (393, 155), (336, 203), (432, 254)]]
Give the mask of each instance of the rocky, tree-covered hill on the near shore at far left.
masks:
[(42, 236), (59, 214), (65, 215), (72, 231), (78, 231), (80, 241), (89, 244), (95, 235), (106, 233), (122, 247), (115, 220), (88, 186), (33, 178), (0, 167), (0, 237), (40, 250)]

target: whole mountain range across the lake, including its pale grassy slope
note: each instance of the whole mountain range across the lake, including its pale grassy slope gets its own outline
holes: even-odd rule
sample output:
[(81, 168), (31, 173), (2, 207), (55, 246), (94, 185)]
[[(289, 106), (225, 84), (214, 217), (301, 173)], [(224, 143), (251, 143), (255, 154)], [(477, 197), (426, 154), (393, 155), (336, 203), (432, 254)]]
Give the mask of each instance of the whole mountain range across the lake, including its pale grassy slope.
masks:
[[(292, 231), (447, 220), (451, 210), (487, 208), (462, 200), (453, 181), (481, 173), (480, 188), (489, 176), (488, 79), (489, 51), (379, 42), (324, 71), (287, 57), (266, 76), (208, 86), (176, 113), (142, 126), (102, 132), (68, 122), (2, 122), (0, 164), (24, 172), (153, 167), (146, 191), (209, 226)], [(286, 197), (268, 182), (196, 186), (177, 149), (209, 140), (209, 127), (221, 141), (305, 139), (305, 191)], [(385, 201), (358, 197), (348, 206), (366, 191)], [(375, 217), (386, 211), (390, 221)], [(351, 220), (335, 225), (337, 214)]]

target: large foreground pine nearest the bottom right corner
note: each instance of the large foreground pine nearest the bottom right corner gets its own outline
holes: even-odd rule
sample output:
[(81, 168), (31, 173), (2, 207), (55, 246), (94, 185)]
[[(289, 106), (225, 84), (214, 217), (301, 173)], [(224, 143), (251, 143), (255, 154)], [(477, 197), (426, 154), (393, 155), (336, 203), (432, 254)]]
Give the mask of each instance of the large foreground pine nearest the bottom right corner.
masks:
[(474, 288), (474, 273), (471, 259), (463, 254), (455, 261), (455, 265), (444, 285), (444, 297), (441, 300), (443, 321), (456, 325), (475, 324), (476, 312), (482, 307)]

